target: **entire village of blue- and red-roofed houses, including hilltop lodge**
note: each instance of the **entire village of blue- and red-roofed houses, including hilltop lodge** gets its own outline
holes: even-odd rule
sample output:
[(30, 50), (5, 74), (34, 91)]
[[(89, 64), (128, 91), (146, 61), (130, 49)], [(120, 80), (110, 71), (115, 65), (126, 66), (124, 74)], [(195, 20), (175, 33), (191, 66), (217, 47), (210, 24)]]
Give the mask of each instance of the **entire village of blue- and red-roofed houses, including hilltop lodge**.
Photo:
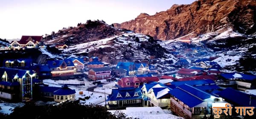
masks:
[[(190, 42), (189, 40), (183, 40)], [(22, 36), (11, 43), (12, 48), (44, 47), (40, 36)], [(55, 45), (58, 49), (67, 45)], [(198, 49), (191, 49), (199, 52)], [(185, 51), (186, 52), (186, 51)], [(118, 62), (113, 68), (99, 57), (70, 57), (62, 60), (48, 60), (35, 64), (31, 59), (4, 59), (0, 68), (0, 98), (12, 101), (31, 99), (52, 99), (55, 102), (74, 101), (76, 91), (68, 88), (45, 85), (43, 79), (70, 79), (84, 75), (92, 81), (119, 79), (117, 89), (108, 95), (107, 108), (158, 106), (168, 108), (185, 119), (212, 115), (212, 103), (228, 102), (232, 106), (256, 107), (256, 76), (239, 72), (224, 73), (221, 66), (212, 60), (188, 61), (179, 53), (172, 52), (178, 61), (172, 76), (159, 75), (155, 65), (135, 62)], [(243, 98), (239, 98), (243, 97)], [(235, 113), (233, 113), (235, 114)]]

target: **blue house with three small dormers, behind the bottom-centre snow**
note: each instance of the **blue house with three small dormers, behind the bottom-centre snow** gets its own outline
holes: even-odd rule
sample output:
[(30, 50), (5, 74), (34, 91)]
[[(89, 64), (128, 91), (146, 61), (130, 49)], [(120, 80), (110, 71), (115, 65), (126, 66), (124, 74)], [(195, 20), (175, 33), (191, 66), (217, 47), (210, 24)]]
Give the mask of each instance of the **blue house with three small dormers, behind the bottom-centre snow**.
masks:
[(112, 89), (108, 95), (107, 108), (141, 107), (143, 105), (140, 88)]

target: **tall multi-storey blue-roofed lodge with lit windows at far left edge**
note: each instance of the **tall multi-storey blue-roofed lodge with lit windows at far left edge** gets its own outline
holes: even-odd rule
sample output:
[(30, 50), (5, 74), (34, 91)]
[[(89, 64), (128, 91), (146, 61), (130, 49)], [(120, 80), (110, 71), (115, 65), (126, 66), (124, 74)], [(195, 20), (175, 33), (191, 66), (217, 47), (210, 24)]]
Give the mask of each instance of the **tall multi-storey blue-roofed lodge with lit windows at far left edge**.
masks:
[(32, 99), (32, 81), (36, 74), (32, 71), (0, 68), (0, 98), (13, 101)]

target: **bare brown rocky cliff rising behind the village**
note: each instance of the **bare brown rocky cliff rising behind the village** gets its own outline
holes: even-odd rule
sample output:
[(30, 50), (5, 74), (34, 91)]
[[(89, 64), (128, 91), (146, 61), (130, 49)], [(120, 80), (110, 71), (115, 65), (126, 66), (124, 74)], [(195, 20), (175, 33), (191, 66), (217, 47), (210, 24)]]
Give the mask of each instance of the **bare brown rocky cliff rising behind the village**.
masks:
[(256, 31), (256, 0), (198, 0), (190, 5), (173, 5), (152, 16), (142, 13), (134, 20), (113, 24), (160, 40), (171, 40), (194, 31), (207, 32), (232, 27), (243, 34)]

